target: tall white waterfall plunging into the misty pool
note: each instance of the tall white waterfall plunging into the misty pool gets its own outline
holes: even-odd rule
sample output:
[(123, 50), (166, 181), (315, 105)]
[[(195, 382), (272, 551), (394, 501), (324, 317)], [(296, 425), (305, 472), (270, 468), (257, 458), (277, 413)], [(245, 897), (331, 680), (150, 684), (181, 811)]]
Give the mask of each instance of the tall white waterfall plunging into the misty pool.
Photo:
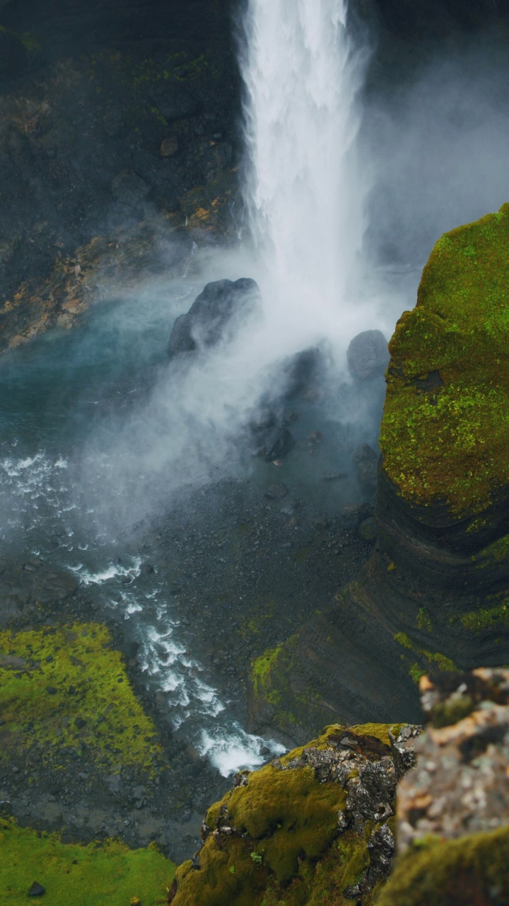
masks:
[(344, 331), (363, 234), (356, 102), (366, 54), (345, 0), (247, 0), (245, 207), (267, 312), (295, 340)]

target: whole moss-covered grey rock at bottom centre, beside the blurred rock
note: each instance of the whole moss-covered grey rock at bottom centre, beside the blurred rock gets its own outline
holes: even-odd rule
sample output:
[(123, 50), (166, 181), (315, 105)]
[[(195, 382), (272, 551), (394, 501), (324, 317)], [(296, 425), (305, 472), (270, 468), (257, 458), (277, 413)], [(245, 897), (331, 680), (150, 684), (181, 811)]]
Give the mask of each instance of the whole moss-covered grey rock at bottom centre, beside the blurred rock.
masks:
[(415, 732), (334, 725), (237, 775), (206, 814), (201, 851), (178, 868), (173, 906), (368, 906), (394, 849), (394, 752)]

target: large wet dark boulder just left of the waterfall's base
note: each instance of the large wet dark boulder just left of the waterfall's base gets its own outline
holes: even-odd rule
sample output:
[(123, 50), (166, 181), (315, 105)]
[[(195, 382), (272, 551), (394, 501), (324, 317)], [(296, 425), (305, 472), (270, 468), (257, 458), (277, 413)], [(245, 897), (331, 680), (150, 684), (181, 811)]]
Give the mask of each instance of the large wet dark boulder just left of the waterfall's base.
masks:
[(206, 284), (187, 314), (181, 314), (174, 323), (169, 354), (200, 351), (231, 340), (260, 305), (258, 285), (248, 277), (235, 283), (216, 280)]

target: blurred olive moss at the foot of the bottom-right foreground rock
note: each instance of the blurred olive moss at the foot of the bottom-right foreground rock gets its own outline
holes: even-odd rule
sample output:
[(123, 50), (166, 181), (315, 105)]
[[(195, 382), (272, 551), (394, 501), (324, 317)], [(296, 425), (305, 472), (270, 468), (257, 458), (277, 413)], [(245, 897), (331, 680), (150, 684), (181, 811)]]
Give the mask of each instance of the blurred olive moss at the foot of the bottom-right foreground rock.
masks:
[(509, 902), (509, 829), (431, 843), (399, 859), (377, 906)]

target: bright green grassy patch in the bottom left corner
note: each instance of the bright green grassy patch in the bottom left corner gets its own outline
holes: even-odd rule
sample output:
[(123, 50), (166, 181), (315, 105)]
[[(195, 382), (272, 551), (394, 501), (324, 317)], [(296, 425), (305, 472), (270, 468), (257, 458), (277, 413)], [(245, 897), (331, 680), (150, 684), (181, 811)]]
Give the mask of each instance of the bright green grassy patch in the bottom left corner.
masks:
[(167, 901), (175, 869), (154, 844), (130, 850), (117, 841), (62, 843), (57, 834), (0, 818), (2, 906), (19, 906), (34, 881), (45, 888), (47, 906), (129, 906), (135, 898), (156, 906)]

